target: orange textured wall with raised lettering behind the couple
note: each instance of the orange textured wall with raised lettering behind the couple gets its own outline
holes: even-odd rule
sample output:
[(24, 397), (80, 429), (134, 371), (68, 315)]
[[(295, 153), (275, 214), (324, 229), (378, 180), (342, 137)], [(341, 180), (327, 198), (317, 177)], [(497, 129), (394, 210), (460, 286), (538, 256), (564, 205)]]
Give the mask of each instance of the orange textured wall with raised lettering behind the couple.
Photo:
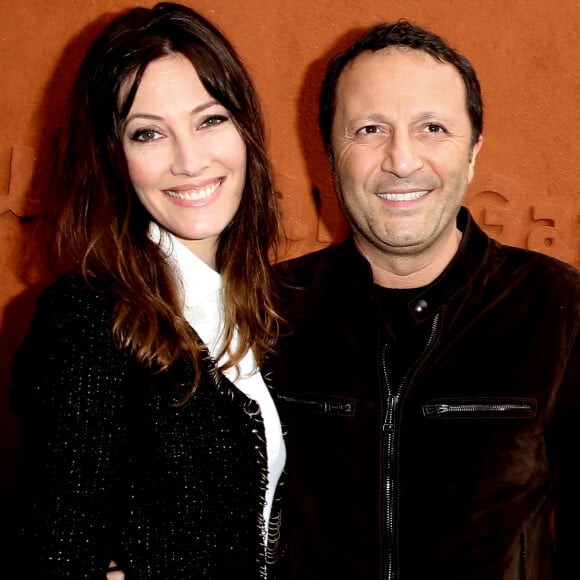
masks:
[[(154, 2), (143, 2), (153, 5)], [(128, 0), (0, 0), (0, 494), (17, 428), (9, 363), (50, 280), (31, 175), (91, 23)], [(323, 66), (341, 35), (406, 17), (446, 37), (483, 86), (485, 142), (468, 196), (494, 237), (580, 266), (578, 0), (198, 0), (262, 96), (290, 254), (344, 233), (316, 124)], [(88, 27), (87, 27), (88, 25)], [(317, 212), (312, 191), (320, 195)], [(30, 361), (34, 364), (34, 361)]]

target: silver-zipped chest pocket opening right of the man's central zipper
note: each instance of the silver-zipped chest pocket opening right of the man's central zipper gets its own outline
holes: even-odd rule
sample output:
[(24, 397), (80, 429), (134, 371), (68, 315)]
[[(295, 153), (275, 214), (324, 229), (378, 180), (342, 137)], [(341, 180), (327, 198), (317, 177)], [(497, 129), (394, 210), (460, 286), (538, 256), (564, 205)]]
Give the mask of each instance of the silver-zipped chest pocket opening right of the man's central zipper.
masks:
[(534, 419), (537, 402), (514, 397), (433, 399), (422, 405), (427, 419)]

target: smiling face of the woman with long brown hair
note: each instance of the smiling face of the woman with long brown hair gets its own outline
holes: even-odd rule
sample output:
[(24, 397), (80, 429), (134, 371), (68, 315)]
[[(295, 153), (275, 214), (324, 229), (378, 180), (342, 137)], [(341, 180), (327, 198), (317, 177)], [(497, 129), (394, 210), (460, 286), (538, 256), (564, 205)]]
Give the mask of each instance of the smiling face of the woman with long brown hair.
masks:
[(182, 54), (147, 66), (122, 139), (141, 203), (162, 228), (215, 266), (218, 238), (242, 198), (246, 146), (228, 110)]

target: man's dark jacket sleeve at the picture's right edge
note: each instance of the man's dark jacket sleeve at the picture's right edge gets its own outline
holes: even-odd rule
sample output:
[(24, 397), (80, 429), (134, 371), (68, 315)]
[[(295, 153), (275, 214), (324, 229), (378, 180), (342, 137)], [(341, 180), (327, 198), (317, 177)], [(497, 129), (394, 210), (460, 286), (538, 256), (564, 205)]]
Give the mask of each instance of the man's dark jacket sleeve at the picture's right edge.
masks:
[(570, 578), (578, 567), (580, 545), (580, 336), (566, 364), (554, 420), (555, 574)]

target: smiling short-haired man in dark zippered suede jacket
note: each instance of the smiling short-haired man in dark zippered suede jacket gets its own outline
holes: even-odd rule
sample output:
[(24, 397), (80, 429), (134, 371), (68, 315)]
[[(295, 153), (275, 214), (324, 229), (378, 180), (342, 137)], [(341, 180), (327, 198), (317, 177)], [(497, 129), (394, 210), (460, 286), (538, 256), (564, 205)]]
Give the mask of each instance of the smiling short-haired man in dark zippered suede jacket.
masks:
[(482, 125), (470, 63), (405, 21), (329, 65), (352, 235), (284, 266), (292, 579), (578, 574), (580, 273), (462, 207)]

